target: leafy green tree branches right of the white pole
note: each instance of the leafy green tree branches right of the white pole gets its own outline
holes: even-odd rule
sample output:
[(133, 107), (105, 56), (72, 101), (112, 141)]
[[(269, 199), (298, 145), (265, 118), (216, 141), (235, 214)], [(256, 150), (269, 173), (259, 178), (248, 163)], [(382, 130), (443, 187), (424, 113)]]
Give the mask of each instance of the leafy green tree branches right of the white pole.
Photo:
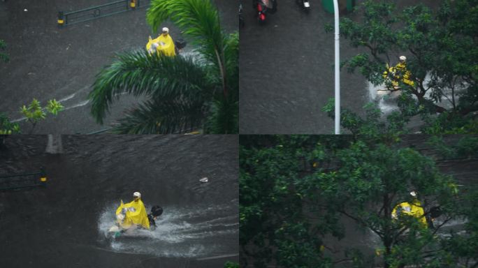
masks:
[[(358, 69), (375, 86), (393, 90), (383, 74), (398, 61), (396, 54), (405, 54), (414, 84), (399, 82), (400, 109), (426, 116), (426, 123), (433, 125), (426, 133), (473, 132), (478, 110), (477, 5), (476, 0), (444, 0), (437, 10), (421, 3), (397, 10), (393, 1), (365, 1), (357, 10), (360, 21), (342, 18), (340, 32), (353, 47), (368, 52), (342, 65), (349, 72)], [(435, 113), (443, 115), (435, 121)]]

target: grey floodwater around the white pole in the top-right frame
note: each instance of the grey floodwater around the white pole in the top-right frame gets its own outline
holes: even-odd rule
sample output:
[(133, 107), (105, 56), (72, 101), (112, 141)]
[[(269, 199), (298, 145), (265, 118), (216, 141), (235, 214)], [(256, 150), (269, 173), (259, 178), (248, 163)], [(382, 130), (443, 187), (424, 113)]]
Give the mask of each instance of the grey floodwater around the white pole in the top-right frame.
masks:
[[(241, 1), (245, 27), (240, 29), (240, 133), (333, 133), (333, 119), (321, 111), (334, 97), (334, 36), (324, 30), (325, 24), (333, 25), (333, 14), (326, 13), (321, 1), (310, 1), (308, 13), (296, 1), (278, 1), (277, 13), (261, 25), (251, 2)], [(400, 7), (416, 3), (397, 1)], [(437, 5), (432, 0), (421, 3)], [(345, 16), (358, 19), (355, 13)], [(359, 52), (366, 51), (340, 38), (340, 61)], [(393, 52), (392, 57), (398, 56)], [(363, 105), (374, 98), (359, 73), (342, 69), (340, 101), (342, 107), (363, 114)]]

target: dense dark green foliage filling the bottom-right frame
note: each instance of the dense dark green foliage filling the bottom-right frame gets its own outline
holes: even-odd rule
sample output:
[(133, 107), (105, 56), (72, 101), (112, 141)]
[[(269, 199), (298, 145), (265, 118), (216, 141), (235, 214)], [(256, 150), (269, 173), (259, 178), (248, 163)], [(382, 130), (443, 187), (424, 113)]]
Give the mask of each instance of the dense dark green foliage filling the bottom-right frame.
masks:
[[(433, 158), (400, 146), (398, 141), (377, 142), (365, 135), (242, 136), (242, 265), (475, 265), (477, 232), (472, 206), (478, 201), (476, 193), (461, 191), (452, 177), (437, 169)], [(410, 191), (419, 193), (425, 216), (440, 207), (442, 215), (433, 227), (423, 226), (413, 216), (391, 216), (397, 204), (416, 202)], [(380, 241), (375, 253), (343, 248), (340, 258), (333, 254), (328, 245), (331, 237), (347, 239), (350, 235), (344, 231), (344, 218), (374, 233)], [(465, 232), (442, 229), (461, 218), (467, 219)]]

